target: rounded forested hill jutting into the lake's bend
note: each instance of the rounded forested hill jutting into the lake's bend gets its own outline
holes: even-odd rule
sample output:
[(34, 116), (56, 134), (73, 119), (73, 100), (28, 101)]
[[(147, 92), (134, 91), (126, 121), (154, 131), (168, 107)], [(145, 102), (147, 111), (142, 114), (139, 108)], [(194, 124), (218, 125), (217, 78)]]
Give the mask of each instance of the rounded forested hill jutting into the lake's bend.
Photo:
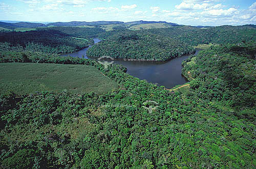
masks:
[(165, 61), (193, 52), (195, 52), (194, 47), (179, 40), (174, 41), (164, 36), (124, 30), (118, 31), (106, 40), (90, 47), (87, 55)]

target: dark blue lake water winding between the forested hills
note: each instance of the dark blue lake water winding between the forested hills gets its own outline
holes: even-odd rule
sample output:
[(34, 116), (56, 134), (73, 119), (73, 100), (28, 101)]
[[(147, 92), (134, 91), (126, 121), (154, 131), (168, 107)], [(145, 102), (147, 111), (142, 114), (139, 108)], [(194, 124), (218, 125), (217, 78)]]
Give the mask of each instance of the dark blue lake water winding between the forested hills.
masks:
[[(99, 39), (94, 39), (95, 43), (98, 43)], [(89, 46), (91, 47), (91, 46)], [(72, 54), (63, 54), (61, 56), (72, 56), (88, 58), (88, 59), (98, 59), (87, 57), (86, 51), (88, 48), (83, 49), (79, 52)], [(197, 49), (195, 55), (198, 54), (200, 50)], [(122, 64), (127, 67), (127, 73), (137, 77), (139, 79), (145, 79), (148, 82), (156, 83), (160, 86), (165, 86), (166, 88), (173, 88), (176, 85), (184, 84), (188, 82), (185, 77), (181, 75), (182, 61), (186, 60), (189, 55), (184, 55), (182, 57), (174, 58), (165, 62), (155, 62), (155, 61), (124, 61), (122, 59), (115, 59), (114, 63)], [(109, 60), (111, 62), (113, 60)]]

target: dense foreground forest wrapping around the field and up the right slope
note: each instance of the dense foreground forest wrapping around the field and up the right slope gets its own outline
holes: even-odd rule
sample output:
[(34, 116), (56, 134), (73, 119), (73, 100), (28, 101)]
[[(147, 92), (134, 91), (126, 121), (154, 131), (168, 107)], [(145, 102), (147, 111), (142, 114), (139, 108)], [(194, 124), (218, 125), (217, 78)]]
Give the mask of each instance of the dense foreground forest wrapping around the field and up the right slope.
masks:
[(190, 89), (183, 92), (134, 78), (118, 65), (2, 56), (0, 62), (92, 65), (119, 88), (100, 95), (1, 95), (1, 167), (255, 168), (255, 46), (217, 45), (189, 58), (183, 74)]

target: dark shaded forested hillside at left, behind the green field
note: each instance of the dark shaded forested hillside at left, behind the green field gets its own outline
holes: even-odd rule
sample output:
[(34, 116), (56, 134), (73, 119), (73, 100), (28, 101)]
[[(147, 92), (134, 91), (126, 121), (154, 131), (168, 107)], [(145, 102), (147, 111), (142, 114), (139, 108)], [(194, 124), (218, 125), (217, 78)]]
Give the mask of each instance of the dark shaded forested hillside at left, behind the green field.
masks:
[[(2, 32), (0, 42), (11, 50), (19, 49), (49, 54), (72, 53), (93, 43), (92, 39), (75, 39), (58, 30), (39, 30), (27, 32)], [(1, 49), (3, 52), (4, 49)]]

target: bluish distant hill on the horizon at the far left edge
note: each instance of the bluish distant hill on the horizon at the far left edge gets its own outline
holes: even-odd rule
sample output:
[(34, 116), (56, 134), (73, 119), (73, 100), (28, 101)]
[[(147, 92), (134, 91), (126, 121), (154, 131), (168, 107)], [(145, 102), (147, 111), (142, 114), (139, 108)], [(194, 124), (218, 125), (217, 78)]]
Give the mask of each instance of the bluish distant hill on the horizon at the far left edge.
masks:
[(29, 23), (29, 22), (17, 22), (17, 23), (6, 23), (0, 22), (0, 27), (6, 29), (16, 29), (16, 28), (37, 28), (45, 26), (42, 23)]

